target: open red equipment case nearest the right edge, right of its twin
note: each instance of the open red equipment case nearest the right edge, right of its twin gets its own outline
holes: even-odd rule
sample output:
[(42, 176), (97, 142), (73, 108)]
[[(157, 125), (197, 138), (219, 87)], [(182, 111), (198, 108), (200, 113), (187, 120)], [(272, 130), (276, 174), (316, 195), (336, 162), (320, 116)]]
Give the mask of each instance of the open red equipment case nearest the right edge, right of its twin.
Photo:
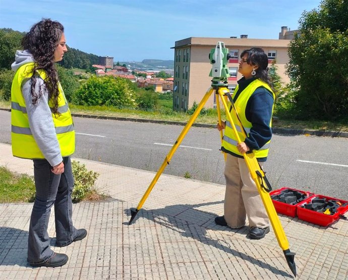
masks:
[(340, 215), (348, 211), (348, 204), (346, 204), (345, 206), (338, 207), (336, 212), (333, 214), (324, 214), (311, 209), (306, 209), (304, 205), (311, 203), (312, 200), (315, 198), (319, 198), (319, 199), (322, 198), (322, 199), (325, 199), (326, 201), (335, 200), (341, 204), (348, 203), (348, 201), (337, 199), (334, 197), (328, 197), (324, 195), (315, 195), (297, 204), (297, 215), (299, 219), (315, 223), (315, 225), (327, 227), (331, 223), (333, 223), (335, 220), (339, 219)]

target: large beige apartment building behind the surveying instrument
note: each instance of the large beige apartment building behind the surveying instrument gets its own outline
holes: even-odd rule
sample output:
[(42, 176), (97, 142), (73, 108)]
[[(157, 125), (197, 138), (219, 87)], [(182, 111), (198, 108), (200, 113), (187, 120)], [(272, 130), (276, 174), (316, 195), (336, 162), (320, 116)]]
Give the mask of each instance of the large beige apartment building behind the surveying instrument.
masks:
[[(285, 32), (285, 27), (282, 31)], [(230, 91), (236, 88), (237, 81), (242, 78), (242, 75), (238, 73), (240, 54), (243, 50), (251, 47), (263, 48), (268, 55), (269, 66), (273, 60), (276, 60), (277, 74), (283, 83), (289, 82), (289, 78), (284, 72), (285, 64), (288, 62), (287, 48), (290, 40), (249, 39), (248, 35), (241, 35), (241, 38), (190, 37), (176, 41), (175, 46), (172, 47), (175, 49), (173, 110), (186, 111), (192, 107), (194, 101), (199, 103), (203, 98), (212, 79), (209, 77), (212, 65), (208, 55), (218, 41), (225, 43), (230, 54), (227, 64), (231, 75), (228, 78)], [(205, 107), (214, 106), (216, 106), (216, 101), (215, 95), (212, 94)]]

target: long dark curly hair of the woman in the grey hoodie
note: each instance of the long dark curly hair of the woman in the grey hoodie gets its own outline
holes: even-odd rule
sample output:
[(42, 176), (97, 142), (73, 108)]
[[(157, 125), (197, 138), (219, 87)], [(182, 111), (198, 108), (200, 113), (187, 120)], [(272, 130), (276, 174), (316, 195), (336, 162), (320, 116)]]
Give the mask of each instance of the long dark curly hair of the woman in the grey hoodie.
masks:
[[(35, 71), (43, 70), (46, 72), (44, 84), (48, 91), (48, 99), (52, 101), (52, 113), (58, 113), (58, 75), (54, 66), (54, 50), (57, 47), (64, 27), (57, 21), (42, 19), (34, 24), (30, 31), (24, 36), (22, 45), (33, 55), (35, 64), (31, 76), (31, 96), (32, 103), (36, 104), (40, 98), (40, 93), (35, 92)], [(59, 113), (58, 113), (59, 114)]]

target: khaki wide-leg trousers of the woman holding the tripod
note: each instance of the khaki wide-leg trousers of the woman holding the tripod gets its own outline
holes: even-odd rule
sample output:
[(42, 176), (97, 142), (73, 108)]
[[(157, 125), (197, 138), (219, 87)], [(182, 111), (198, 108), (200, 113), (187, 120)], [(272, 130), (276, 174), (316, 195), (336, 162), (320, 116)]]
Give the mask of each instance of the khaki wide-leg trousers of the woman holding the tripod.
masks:
[[(262, 165), (262, 162), (260, 162)], [(241, 228), (248, 217), (250, 228), (266, 228), (269, 219), (244, 158), (227, 154), (224, 218), (231, 228)]]

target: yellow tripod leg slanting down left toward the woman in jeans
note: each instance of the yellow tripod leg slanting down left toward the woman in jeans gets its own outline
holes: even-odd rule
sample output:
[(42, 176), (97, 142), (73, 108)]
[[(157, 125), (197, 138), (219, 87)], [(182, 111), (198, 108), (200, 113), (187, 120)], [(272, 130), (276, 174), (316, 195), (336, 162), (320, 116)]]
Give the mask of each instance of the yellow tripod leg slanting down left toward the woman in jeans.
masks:
[(137, 208), (132, 208), (131, 209), (131, 219), (129, 220), (129, 225), (131, 225), (131, 222), (133, 221), (133, 219), (135, 218), (135, 216), (137, 215), (137, 213), (139, 212), (139, 210), (143, 207), (143, 204), (145, 202), (145, 200), (147, 199), (147, 197), (149, 196), (150, 192), (152, 191), (153, 187), (155, 186), (158, 178), (161, 176), (162, 172), (164, 171), (165, 167), (167, 166), (167, 164), (169, 164), (169, 161), (172, 157), (172, 155), (175, 153), (175, 151), (177, 150), (177, 148), (179, 147), (179, 145), (181, 144), (181, 142), (183, 141), (185, 135), (187, 134), (187, 132), (189, 131), (189, 129), (191, 128), (192, 124), (195, 122), (195, 120), (197, 119), (200, 111), (203, 109), (204, 104), (207, 102), (209, 96), (211, 95), (211, 93), (213, 92), (213, 88), (210, 87), (207, 92), (205, 93), (205, 95), (203, 96), (201, 102), (199, 102), (196, 110), (194, 111), (193, 115), (191, 116), (190, 120), (187, 122), (186, 126), (184, 127), (183, 131), (181, 132), (181, 134), (179, 135), (177, 141), (175, 142), (175, 144), (171, 147), (169, 153), (167, 154), (167, 156), (165, 157), (161, 167), (159, 168), (159, 170), (157, 171), (155, 177), (153, 178), (151, 184), (149, 185), (149, 187), (147, 188), (146, 192), (144, 193), (143, 197), (141, 198)]

